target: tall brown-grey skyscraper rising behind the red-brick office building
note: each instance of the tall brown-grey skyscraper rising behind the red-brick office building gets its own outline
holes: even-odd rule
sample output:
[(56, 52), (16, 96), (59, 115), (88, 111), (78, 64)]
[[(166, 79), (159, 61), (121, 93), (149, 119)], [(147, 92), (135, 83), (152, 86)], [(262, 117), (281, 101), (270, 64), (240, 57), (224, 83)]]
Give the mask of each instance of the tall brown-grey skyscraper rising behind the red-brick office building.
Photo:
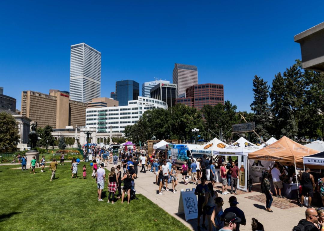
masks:
[(173, 83), (177, 85), (177, 97), (186, 93), (186, 89), (198, 84), (198, 70), (196, 66), (174, 64)]

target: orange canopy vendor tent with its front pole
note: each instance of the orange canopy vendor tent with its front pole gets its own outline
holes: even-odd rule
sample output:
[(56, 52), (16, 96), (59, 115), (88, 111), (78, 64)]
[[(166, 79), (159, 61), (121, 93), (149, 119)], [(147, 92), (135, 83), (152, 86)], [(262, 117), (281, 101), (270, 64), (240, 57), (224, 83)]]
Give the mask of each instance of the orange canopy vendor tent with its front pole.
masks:
[[(271, 160), (271, 161), (279, 161), (283, 164), (286, 162), (294, 163), (295, 169), (296, 164), (302, 164), (303, 156), (308, 156), (311, 154), (315, 154), (318, 151), (305, 147), (297, 142), (289, 139), (286, 136), (283, 136), (278, 141), (270, 144), (260, 150), (249, 153), (248, 158), (254, 160)], [(284, 196), (291, 195), (293, 190), (297, 190), (298, 188), (298, 179), (297, 173), (296, 175), (296, 184), (287, 184), (283, 183), (282, 193)], [(298, 191), (297, 195), (299, 197)]]

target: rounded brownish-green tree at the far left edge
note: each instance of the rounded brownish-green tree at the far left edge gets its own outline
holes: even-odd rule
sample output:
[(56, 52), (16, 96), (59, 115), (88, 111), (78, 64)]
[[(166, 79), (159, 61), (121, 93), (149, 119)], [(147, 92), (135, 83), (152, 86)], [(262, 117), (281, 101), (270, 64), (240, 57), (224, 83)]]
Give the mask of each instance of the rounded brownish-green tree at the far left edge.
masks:
[(19, 138), (15, 118), (5, 111), (0, 112), (0, 152), (16, 151)]

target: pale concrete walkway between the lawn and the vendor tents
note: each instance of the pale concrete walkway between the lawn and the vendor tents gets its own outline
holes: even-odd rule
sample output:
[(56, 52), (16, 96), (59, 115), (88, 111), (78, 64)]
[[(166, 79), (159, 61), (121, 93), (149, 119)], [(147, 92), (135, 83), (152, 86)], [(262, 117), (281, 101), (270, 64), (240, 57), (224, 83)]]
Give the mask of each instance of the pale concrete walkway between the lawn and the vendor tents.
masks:
[[(106, 168), (110, 170), (113, 165), (108, 165)], [(140, 170), (140, 168), (138, 169)], [(178, 174), (178, 178), (181, 177), (181, 174)], [(180, 179), (180, 182), (182, 180)], [(184, 225), (188, 226), (191, 230), (197, 230), (197, 220), (185, 221), (184, 214), (177, 215), (178, 205), (180, 198), (181, 189), (192, 189), (196, 185), (188, 184), (185, 185), (182, 182), (176, 187), (177, 192), (173, 193), (171, 191), (164, 191), (163, 195), (157, 194), (158, 187), (153, 182), (155, 182), (155, 175), (146, 171), (146, 173), (138, 172), (138, 179), (135, 180), (135, 189), (136, 193), (140, 193), (147, 197), (152, 202), (156, 203), (159, 207), (164, 209), (166, 212), (177, 218)], [(232, 194), (221, 195), (219, 191), (220, 184), (217, 184), (217, 192), (219, 196), (224, 199), (223, 209), (229, 207), (228, 198)], [(172, 189), (172, 185), (168, 186), (169, 189)], [(238, 206), (245, 213), (247, 219), (247, 225), (241, 225), (241, 231), (250, 231), (251, 230), (251, 219), (255, 217), (264, 225), (265, 230), (280, 230), (280, 231), (291, 231), (291, 229), (298, 223), (300, 219), (305, 218), (306, 208), (300, 208), (296, 206), (293, 201), (287, 199), (280, 199), (274, 197), (273, 206), (271, 207), (273, 213), (265, 211), (265, 196), (260, 192), (249, 192), (249, 193), (238, 193), (236, 195), (237, 201), (239, 202)], [(262, 200), (264, 198), (264, 200)], [(263, 201), (263, 202), (262, 202)], [(282, 206), (286, 204), (287, 206)], [(291, 204), (291, 206), (289, 206)], [(280, 208), (281, 207), (281, 208)], [(207, 224), (207, 221), (206, 221)], [(203, 229), (202, 229), (203, 230)]]

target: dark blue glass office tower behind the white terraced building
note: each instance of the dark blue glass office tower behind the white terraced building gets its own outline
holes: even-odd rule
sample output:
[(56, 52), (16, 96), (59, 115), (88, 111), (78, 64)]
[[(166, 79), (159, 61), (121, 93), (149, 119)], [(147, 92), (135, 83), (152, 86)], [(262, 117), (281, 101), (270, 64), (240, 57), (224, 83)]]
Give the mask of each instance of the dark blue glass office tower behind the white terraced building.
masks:
[(129, 100), (137, 100), (140, 95), (140, 85), (134, 80), (116, 82), (116, 100), (119, 106), (128, 105)]

